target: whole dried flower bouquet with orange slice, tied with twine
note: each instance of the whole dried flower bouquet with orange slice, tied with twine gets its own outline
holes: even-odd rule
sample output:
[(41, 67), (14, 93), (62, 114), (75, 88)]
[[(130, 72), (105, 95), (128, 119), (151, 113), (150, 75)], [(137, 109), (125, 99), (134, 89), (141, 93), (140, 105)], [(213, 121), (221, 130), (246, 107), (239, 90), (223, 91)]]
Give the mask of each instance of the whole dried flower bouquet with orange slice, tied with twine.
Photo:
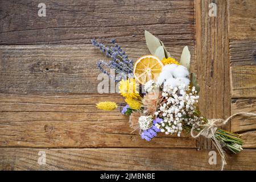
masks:
[[(126, 105), (114, 102), (100, 102), (98, 109), (119, 108), (129, 115), (130, 126), (139, 130), (142, 139), (152, 140), (158, 133), (177, 135), (182, 131), (193, 138), (204, 136), (215, 144), (225, 164), (225, 151), (237, 154), (242, 150), (240, 135), (219, 129), (234, 116), (223, 119), (207, 119), (199, 110), (200, 86), (194, 73), (189, 73), (190, 53), (185, 46), (179, 62), (171, 57), (162, 41), (145, 31), (146, 43), (151, 55), (142, 56), (135, 63), (125, 51), (112, 40), (112, 46), (105, 46), (92, 40), (109, 62), (98, 61), (98, 68), (110, 78), (119, 82), (119, 93)], [(117, 77), (110, 75), (114, 69)], [(139, 85), (142, 85), (140, 88)], [(240, 113), (241, 114), (241, 113)]]

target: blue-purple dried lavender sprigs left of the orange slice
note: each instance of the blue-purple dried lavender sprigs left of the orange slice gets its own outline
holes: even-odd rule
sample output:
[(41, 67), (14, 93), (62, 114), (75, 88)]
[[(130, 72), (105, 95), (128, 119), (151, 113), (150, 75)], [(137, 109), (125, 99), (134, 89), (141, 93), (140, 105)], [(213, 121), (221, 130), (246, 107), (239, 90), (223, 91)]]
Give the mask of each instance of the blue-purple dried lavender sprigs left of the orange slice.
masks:
[[(91, 42), (93, 46), (100, 49), (102, 53), (112, 59), (109, 61), (109, 63), (106, 63), (106, 61), (103, 60), (98, 62), (97, 66), (102, 73), (106, 73), (109, 77), (111, 77), (110, 73), (104, 69), (104, 67), (106, 67), (115, 69), (115, 73), (125, 73), (126, 77), (131, 77), (133, 73), (133, 60), (128, 58), (126, 52), (122, 50), (121, 46), (115, 43), (114, 39), (111, 40), (111, 44), (113, 44), (113, 46), (105, 46), (102, 43), (98, 43), (95, 39), (91, 40)], [(116, 82), (120, 80), (121, 78), (117, 78), (117, 80), (115, 79)]]

